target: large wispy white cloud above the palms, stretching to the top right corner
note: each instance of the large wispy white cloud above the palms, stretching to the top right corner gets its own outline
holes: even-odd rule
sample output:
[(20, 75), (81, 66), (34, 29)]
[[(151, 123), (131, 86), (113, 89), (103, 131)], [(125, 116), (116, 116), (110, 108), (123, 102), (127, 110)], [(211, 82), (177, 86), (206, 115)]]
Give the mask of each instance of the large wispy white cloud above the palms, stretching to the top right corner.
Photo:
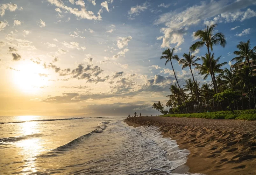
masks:
[[(191, 25), (199, 24), (202, 20), (216, 17), (219, 14), (229, 16), (231, 13), (244, 9), (251, 4), (252, 0), (235, 1), (233, 3), (228, 3), (225, 0), (217, 2), (211, 0), (209, 3), (203, 1), (200, 5), (188, 7), (181, 12), (174, 10), (164, 13), (154, 22), (155, 25), (165, 25), (160, 29), (164, 34), (161, 48), (171, 47), (171, 44), (176, 44), (175, 47), (180, 46), (184, 42), (183, 35), (187, 33), (188, 27)], [(252, 12), (249, 11), (246, 17), (253, 16)], [(221, 17), (216, 17), (217, 21), (220, 19)], [(242, 16), (241, 20), (243, 19), (244, 17)], [(229, 19), (227, 20), (229, 21)]]

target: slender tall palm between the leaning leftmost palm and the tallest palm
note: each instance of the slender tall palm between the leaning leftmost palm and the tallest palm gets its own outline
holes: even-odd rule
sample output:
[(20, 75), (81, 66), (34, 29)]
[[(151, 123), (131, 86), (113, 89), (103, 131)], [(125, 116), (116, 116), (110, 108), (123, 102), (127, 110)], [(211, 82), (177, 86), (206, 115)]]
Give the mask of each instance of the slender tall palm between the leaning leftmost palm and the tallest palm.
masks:
[[(193, 75), (193, 72), (192, 72), (192, 69), (191, 69), (191, 66), (195, 67), (195, 66), (198, 66), (197, 64), (197, 61), (200, 60), (200, 58), (196, 58), (195, 59), (195, 55), (190, 55), (190, 52), (189, 53), (184, 53), (183, 54), (183, 57), (184, 59), (182, 58), (180, 61), (179, 61), (179, 64), (182, 64), (182, 69), (186, 68), (186, 67), (189, 67), (190, 69), (190, 72), (192, 74), (192, 78), (193, 78), (193, 82), (194, 82), (194, 85), (196, 87), (196, 81), (195, 81), (195, 78), (194, 78), (194, 75)], [(196, 98), (197, 98), (197, 104), (198, 104), (198, 108), (200, 110), (200, 105), (199, 105), (199, 95), (198, 95), (198, 90), (196, 88)]]

